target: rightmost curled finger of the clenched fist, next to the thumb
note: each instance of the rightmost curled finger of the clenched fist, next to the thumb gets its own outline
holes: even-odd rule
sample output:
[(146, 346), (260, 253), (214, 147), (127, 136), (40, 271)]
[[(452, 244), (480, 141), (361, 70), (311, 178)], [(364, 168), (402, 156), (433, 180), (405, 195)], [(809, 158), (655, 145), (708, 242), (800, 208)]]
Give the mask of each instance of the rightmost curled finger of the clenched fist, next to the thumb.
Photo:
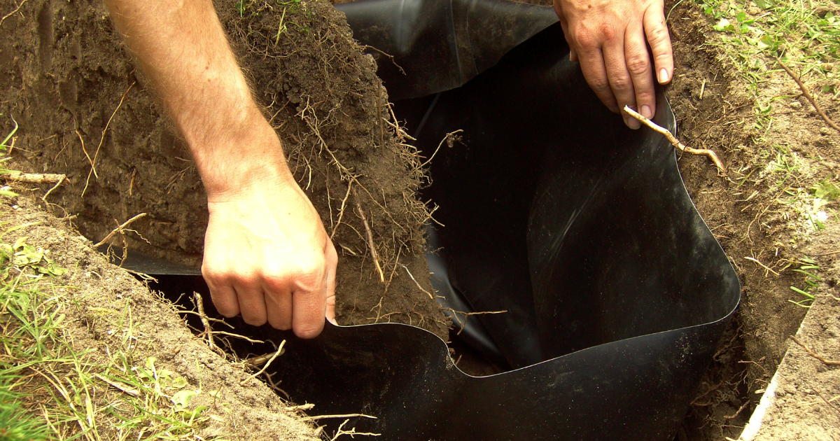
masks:
[(327, 271), (323, 262), (319, 266), (298, 277), (295, 291), (291, 293), (291, 328), (302, 339), (313, 339), (323, 330), (327, 312)]

